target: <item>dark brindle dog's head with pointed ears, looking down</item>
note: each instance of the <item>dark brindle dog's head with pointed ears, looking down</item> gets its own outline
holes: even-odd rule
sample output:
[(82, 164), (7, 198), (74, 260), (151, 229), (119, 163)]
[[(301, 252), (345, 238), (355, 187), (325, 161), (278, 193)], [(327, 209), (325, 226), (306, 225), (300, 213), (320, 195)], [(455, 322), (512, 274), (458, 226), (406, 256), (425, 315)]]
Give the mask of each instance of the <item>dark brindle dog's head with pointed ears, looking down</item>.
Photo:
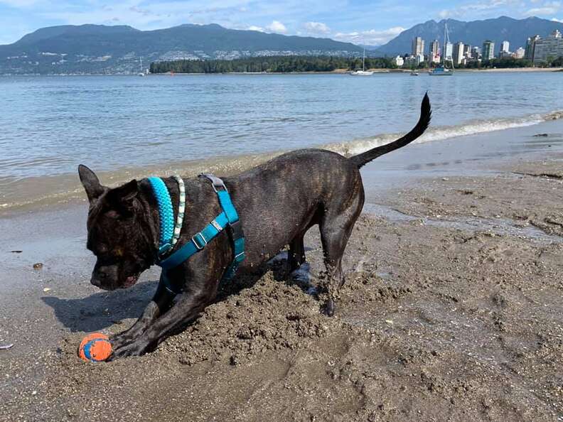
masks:
[(154, 256), (139, 183), (110, 189), (86, 166), (79, 166), (78, 174), (90, 201), (87, 248), (97, 257), (91, 283), (104, 290), (131, 287)]

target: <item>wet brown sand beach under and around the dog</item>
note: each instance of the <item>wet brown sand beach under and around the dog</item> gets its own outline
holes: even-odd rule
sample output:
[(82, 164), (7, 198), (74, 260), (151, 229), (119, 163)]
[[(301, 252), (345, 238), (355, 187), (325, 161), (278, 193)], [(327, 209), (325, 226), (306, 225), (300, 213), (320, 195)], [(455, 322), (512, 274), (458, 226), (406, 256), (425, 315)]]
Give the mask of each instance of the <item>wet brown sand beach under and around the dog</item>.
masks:
[(563, 418), (562, 126), (367, 166), (335, 318), (314, 293), (311, 229), (291, 281), (281, 255), (156, 352), (109, 364), (80, 362), (78, 342), (127, 328), (157, 269), (127, 291), (90, 286), (85, 203), (1, 217), (0, 345), (15, 345), (0, 350), (0, 420)]

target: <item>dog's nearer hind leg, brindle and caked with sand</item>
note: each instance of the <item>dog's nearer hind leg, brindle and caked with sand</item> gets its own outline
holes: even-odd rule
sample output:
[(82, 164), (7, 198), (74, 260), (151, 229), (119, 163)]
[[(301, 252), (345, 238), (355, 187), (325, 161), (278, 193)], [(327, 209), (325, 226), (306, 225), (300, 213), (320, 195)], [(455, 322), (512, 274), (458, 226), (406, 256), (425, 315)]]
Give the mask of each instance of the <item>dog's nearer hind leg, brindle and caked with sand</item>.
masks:
[(362, 207), (363, 191), (359, 195), (356, 195), (350, 207), (344, 212), (334, 215), (330, 210), (327, 210), (319, 224), (327, 271), (325, 287), (328, 293), (328, 300), (326, 302), (325, 312), (329, 316), (334, 315), (335, 312), (334, 301), (336, 292), (344, 285), (342, 256)]

